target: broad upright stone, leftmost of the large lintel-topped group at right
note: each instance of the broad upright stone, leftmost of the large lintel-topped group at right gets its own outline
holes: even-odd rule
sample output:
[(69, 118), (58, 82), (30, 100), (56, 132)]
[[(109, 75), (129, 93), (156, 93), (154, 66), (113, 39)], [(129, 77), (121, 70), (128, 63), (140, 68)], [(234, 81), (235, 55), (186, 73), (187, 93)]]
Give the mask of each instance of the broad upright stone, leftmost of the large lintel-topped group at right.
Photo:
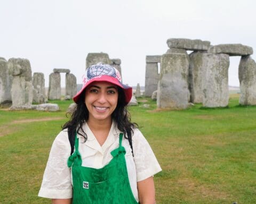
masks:
[(157, 107), (185, 109), (189, 103), (188, 54), (164, 54), (157, 89)]

